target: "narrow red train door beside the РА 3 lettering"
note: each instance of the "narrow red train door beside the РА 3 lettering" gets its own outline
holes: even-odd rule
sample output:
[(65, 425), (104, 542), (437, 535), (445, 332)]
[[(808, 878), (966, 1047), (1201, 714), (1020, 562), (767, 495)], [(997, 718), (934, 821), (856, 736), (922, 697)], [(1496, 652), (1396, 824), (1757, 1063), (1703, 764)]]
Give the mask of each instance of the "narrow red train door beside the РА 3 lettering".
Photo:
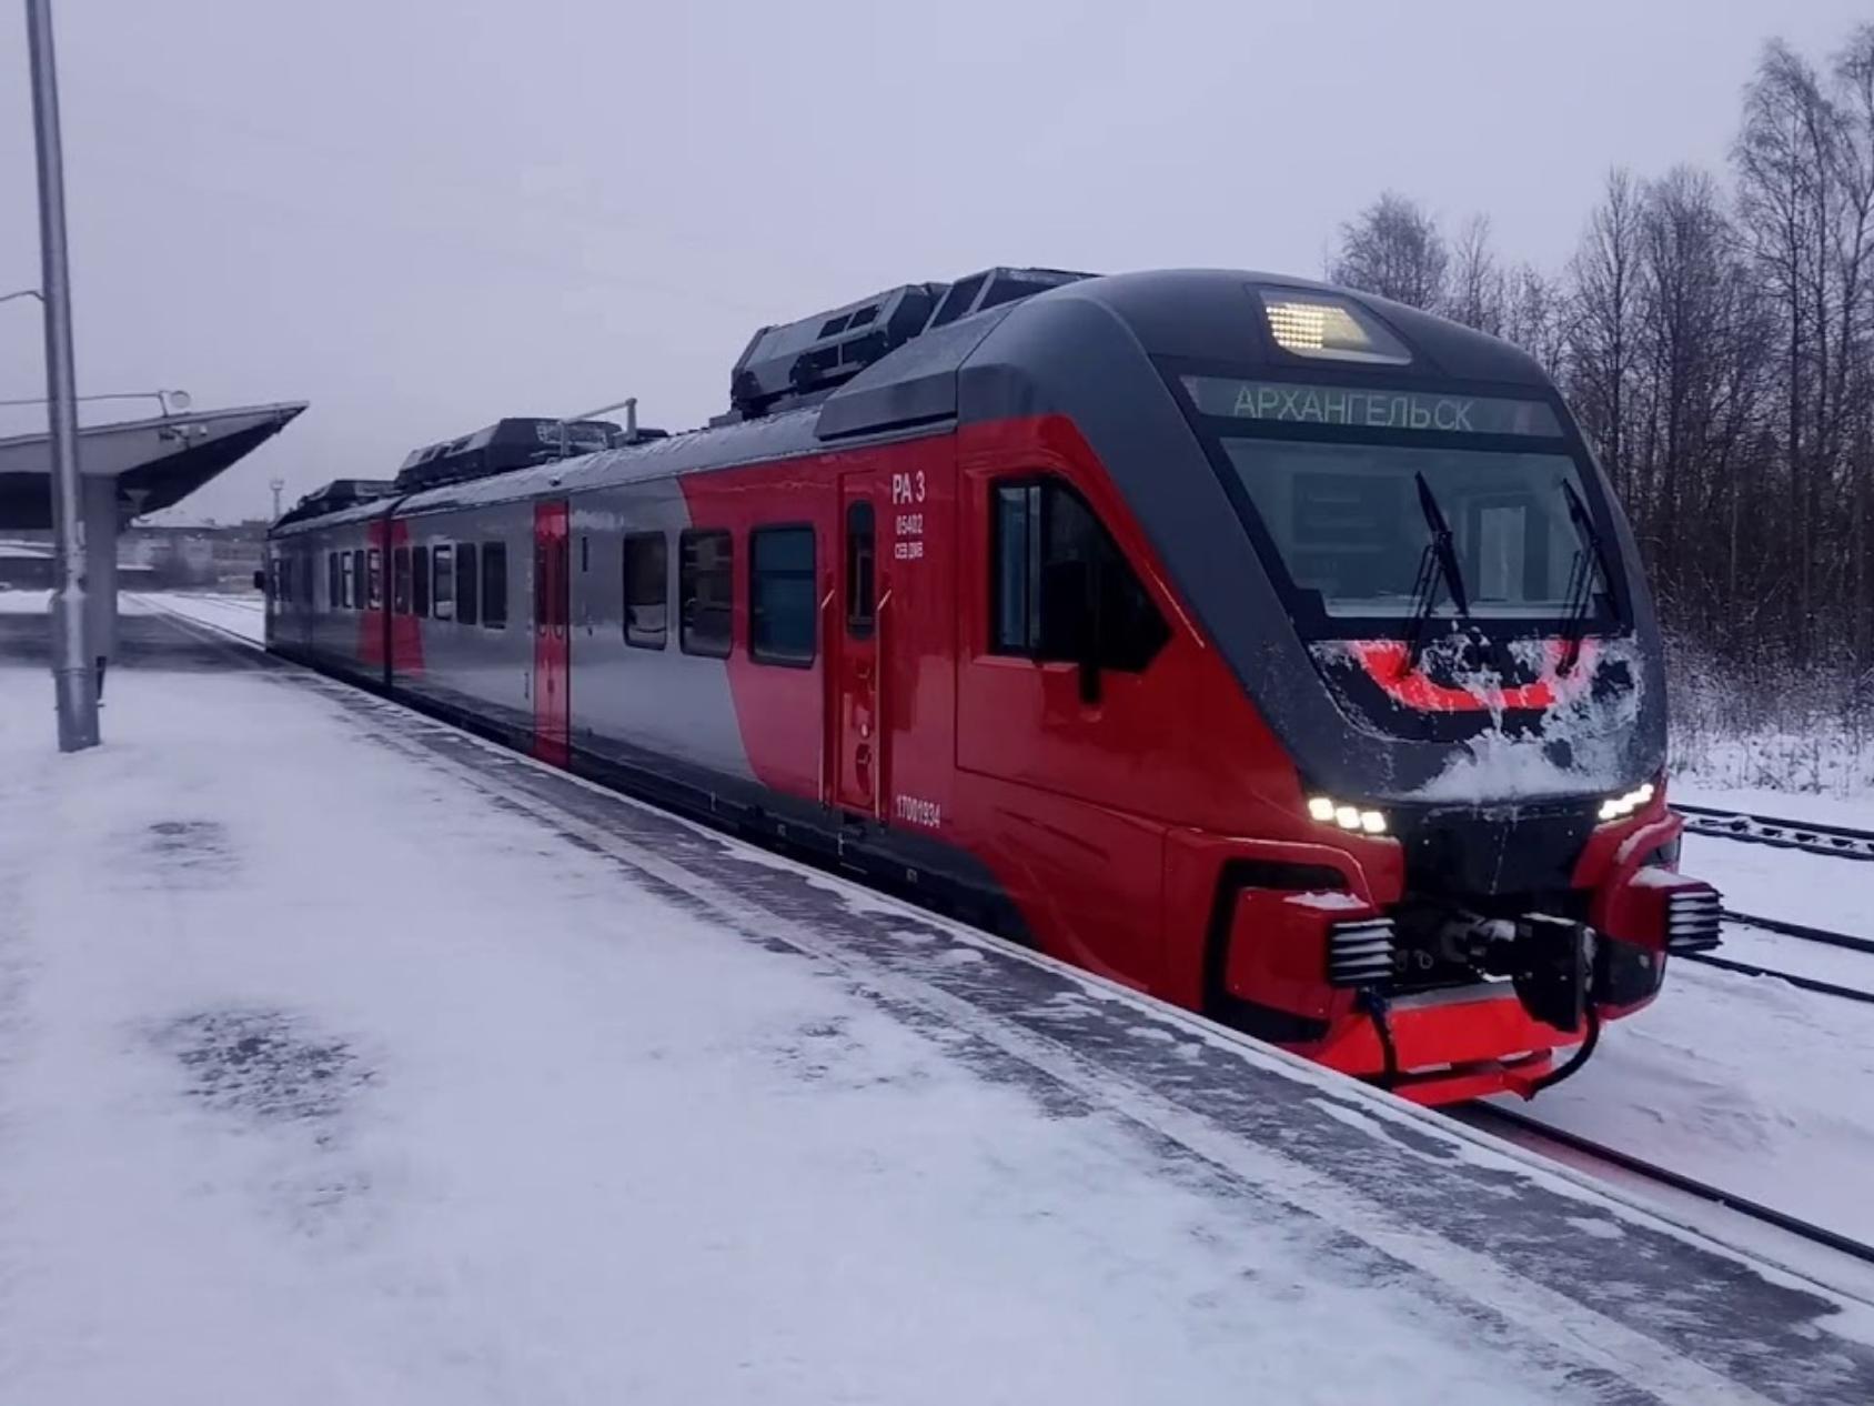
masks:
[(840, 574), (826, 639), (832, 692), (832, 802), (885, 819), (883, 619), (877, 570), (877, 474), (840, 480)]

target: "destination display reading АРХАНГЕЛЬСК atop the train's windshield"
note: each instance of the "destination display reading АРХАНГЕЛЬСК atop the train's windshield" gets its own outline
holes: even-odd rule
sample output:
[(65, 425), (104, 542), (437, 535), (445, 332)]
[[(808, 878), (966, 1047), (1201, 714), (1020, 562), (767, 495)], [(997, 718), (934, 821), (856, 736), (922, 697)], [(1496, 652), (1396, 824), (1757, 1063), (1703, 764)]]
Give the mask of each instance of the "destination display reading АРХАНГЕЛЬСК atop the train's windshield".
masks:
[(1182, 377), (1201, 414), (1295, 426), (1420, 429), (1445, 435), (1529, 435), (1555, 439), (1561, 424), (1542, 401), (1495, 396), (1437, 396), (1374, 386), (1308, 386), (1293, 381)]

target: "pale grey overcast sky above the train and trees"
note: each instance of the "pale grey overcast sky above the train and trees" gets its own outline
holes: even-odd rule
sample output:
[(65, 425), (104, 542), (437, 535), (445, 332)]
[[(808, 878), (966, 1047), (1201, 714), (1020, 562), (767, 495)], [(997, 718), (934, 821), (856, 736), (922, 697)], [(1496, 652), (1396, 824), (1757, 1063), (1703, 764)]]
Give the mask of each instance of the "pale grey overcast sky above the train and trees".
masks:
[[(184, 514), (502, 414), (725, 407), (761, 322), (997, 262), (1319, 274), (1396, 187), (1559, 264), (1602, 172), (1713, 167), (1850, 0), (54, 0), (79, 390), (309, 399)], [(11, 11), (11, 13), (7, 13)], [(0, 292), (37, 283), (0, 6)], [(0, 399), (43, 394), (0, 306)], [(4, 414), (4, 412), (0, 412)], [(90, 418), (99, 418), (90, 414)], [(43, 424), (43, 418), (39, 420)], [(0, 420), (0, 429), (28, 426)], [(30, 426), (37, 427), (37, 424)]]

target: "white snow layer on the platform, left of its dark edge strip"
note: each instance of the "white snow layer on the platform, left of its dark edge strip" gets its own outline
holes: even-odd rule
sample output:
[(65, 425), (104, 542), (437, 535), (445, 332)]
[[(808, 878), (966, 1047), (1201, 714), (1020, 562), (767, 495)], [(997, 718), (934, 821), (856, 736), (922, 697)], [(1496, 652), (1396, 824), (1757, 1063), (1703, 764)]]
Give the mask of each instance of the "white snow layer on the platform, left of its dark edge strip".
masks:
[(214, 682), (212, 727), (201, 677), (124, 675), (103, 752), (0, 752), (0, 1397), (1514, 1389), (800, 962)]

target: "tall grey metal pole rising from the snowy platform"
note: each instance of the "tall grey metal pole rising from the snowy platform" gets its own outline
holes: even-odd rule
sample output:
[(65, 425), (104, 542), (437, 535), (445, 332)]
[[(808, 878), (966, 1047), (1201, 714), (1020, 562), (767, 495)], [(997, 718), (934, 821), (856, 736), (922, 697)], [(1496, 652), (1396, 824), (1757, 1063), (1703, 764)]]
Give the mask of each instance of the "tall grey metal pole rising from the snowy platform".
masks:
[(39, 291), (45, 302), (45, 394), (52, 431), (52, 690), (58, 750), (97, 746), (97, 679), (84, 628), (84, 523), (79, 497), (79, 405), (66, 266), (66, 161), (58, 139), (52, 0), (26, 0), (32, 127), (39, 156)]

